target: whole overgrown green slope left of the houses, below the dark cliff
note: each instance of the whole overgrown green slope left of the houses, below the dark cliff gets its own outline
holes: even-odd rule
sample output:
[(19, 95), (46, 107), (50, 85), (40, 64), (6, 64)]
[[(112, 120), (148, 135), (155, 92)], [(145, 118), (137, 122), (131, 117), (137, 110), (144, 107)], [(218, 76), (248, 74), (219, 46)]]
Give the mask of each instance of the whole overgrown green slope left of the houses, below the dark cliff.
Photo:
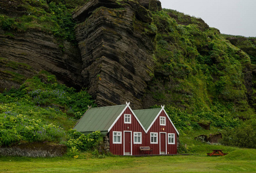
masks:
[(41, 72), (20, 89), (0, 93), (0, 145), (20, 140), (65, 142), (66, 131), (87, 105), (95, 106), (86, 91), (76, 92)]

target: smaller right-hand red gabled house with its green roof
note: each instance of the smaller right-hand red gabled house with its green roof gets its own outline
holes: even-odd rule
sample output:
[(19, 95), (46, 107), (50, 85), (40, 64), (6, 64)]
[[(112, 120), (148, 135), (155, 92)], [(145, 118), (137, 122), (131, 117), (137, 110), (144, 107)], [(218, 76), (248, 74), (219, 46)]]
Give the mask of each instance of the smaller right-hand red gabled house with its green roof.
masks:
[(161, 108), (135, 110), (134, 113), (146, 129), (146, 142), (154, 155), (177, 154), (179, 132), (169, 116)]

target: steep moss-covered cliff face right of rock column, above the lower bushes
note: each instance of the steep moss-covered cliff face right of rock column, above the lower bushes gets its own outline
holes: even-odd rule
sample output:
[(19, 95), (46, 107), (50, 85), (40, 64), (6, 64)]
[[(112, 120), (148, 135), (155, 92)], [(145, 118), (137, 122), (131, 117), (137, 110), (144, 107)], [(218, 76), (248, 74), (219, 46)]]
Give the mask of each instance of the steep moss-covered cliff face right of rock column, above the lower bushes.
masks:
[(159, 104), (193, 112), (210, 111), (212, 103), (219, 101), (232, 104), (238, 112), (250, 110), (244, 85), (244, 76), (250, 73), (245, 70), (250, 66), (247, 54), (200, 18), (164, 9), (153, 12), (153, 23), (157, 27), (157, 49), (148, 93), (161, 100)]

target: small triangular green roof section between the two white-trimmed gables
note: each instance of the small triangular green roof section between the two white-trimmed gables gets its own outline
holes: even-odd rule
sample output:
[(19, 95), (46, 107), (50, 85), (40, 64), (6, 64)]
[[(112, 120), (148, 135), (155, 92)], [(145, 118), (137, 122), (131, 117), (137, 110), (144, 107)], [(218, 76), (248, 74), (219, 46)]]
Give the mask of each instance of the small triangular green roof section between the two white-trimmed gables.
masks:
[(160, 111), (161, 108), (154, 108), (149, 110), (135, 110), (133, 112), (139, 119), (140, 123), (142, 123), (144, 129), (147, 130)]

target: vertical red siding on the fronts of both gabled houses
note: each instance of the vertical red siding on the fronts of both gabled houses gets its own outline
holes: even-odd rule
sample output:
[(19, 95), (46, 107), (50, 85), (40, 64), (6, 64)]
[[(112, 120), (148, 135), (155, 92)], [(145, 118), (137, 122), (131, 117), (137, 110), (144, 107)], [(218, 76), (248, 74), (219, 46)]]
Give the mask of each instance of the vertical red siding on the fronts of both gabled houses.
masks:
[[(124, 123), (124, 114), (131, 114), (131, 124)], [(166, 126), (160, 126), (160, 118), (159, 116), (166, 117)], [(124, 131), (131, 131), (132, 135), (132, 155), (140, 155), (139, 146), (150, 146), (153, 149), (154, 155), (160, 154), (160, 132), (166, 133), (166, 153), (167, 154), (176, 154), (177, 153), (177, 133), (175, 128), (170, 123), (168, 117), (165, 112), (162, 111), (158, 116), (153, 126), (151, 126), (150, 130), (147, 134), (144, 132), (139, 122), (136, 120), (135, 116), (132, 112), (127, 108), (124, 113), (120, 116), (116, 124), (112, 127), (109, 132), (109, 142), (110, 142), (110, 152), (114, 155), (124, 155)], [(129, 128), (128, 128), (129, 127)], [(146, 129), (147, 130), (147, 129)], [(121, 131), (122, 132), (122, 144), (113, 144), (113, 131)], [(141, 132), (142, 133), (142, 144), (133, 144), (133, 132)], [(158, 144), (150, 144), (150, 133), (158, 133)], [(175, 144), (168, 144), (168, 133), (175, 133)]]

